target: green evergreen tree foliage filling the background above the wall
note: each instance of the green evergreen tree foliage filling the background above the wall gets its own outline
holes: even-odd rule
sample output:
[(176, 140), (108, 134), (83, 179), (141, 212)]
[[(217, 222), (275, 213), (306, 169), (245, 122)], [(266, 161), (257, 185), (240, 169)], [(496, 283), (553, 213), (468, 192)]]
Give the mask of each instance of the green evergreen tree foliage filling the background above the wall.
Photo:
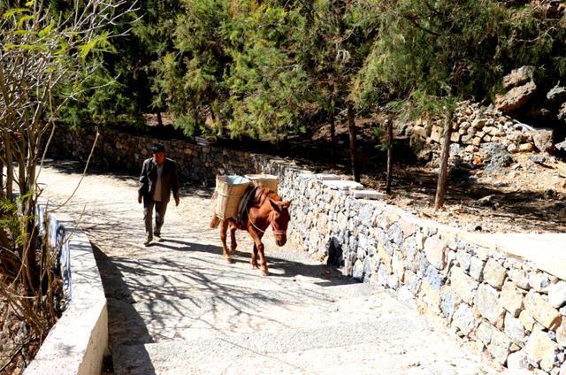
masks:
[[(52, 0), (52, 4), (62, 3)], [(493, 99), (521, 65), (566, 80), (566, 17), (498, 0), (143, 0), (65, 119), (278, 142), (349, 104), (410, 116)], [(555, 18), (553, 18), (555, 17)], [(93, 82), (89, 82), (91, 85)], [(409, 111), (406, 111), (409, 110)], [(342, 116), (340, 119), (344, 119)]]

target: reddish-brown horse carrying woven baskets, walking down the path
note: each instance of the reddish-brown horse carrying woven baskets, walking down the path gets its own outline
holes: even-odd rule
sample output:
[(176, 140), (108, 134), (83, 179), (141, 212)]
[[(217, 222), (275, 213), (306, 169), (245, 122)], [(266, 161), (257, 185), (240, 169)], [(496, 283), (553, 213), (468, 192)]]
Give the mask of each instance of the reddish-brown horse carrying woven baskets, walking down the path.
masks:
[[(232, 262), (230, 255), (236, 249), (236, 230), (248, 231), (254, 241), (254, 249), (251, 253), (251, 266), (258, 268), (257, 257), (261, 264), (261, 271), (264, 275), (268, 274), (267, 261), (264, 255), (264, 244), (262, 237), (269, 226), (272, 226), (275, 241), (279, 246), (287, 242), (287, 225), (290, 220), (289, 206), (291, 201), (283, 202), (279, 195), (268, 188), (256, 188), (255, 194), (250, 197), (248, 205), (243, 213), (241, 222), (234, 218), (222, 220), (214, 216), (210, 221), (210, 227), (220, 226), (220, 240), (222, 241), (223, 256), (229, 263)], [(226, 247), (226, 232), (230, 227), (230, 250)]]

